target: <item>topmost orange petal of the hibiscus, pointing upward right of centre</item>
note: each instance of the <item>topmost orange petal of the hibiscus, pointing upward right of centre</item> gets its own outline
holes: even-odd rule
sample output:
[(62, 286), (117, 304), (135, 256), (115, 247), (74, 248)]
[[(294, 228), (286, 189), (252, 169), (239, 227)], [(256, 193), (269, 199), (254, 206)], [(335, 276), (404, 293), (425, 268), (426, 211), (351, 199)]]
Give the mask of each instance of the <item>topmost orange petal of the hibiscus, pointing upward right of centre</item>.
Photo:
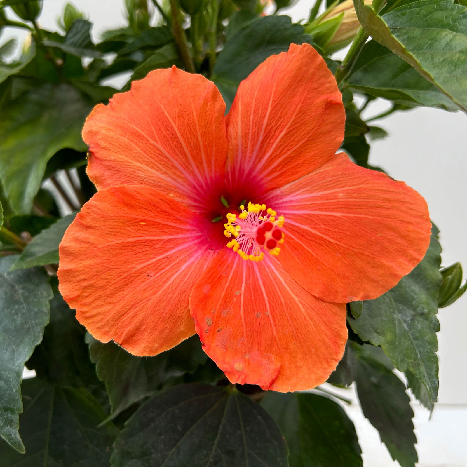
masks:
[(245, 198), (318, 168), (339, 149), (345, 112), (336, 81), (311, 45), (260, 64), (240, 83), (227, 116), (227, 183)]

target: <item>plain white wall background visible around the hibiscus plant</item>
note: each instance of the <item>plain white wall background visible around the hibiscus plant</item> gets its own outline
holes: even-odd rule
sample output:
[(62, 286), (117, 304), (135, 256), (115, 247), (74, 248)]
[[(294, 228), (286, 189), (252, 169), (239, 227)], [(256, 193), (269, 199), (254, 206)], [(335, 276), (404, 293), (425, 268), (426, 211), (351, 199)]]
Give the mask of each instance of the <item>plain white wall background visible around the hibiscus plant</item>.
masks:
[[(40, 18), (44, 28), (57, 29), (56, 20), (65, 4), (64, 0), (44, 1)], [(125, 26), (123, 0), (75, 0), (74, 4), (95, 24), (92, 33), (96, 39), (106, 29)], [(311, 5), (309, 0), (299, 0), (283, 12), (300, 21), (308, 16)], [(0, 37), (0, 45), (12, 36), (21, 39), (24, 34), (9, 29)], [(120, 77), (111, 84), (122, 85), (126, 79), (127, 76)], [(386, 108), (388, 104), (379, 100), (365, 116), (376, 115)], [(441, 231), (443, 265), (460, 261), (467, 271), (467, 116), (417, 108), (376, 120), (375, 125), (384, 127), (389, 137), (373, 142), (370, 163), (381, 166), (425, 197), (432, 220)], [(462, 297), (439, 311), (440, 389), (432, 419), (428, 420), (427, 411), (416, 402), (412, 404), (420, 467), (467, 467), (466, 305), (467, 298)], [(349, 397), (348, 391), (346, 394)], [(361, 415), (358, 403), (353, 404), (349, 413), (359, 434), (365, 467), (396, 465), (380, 445), (377, 432)]]

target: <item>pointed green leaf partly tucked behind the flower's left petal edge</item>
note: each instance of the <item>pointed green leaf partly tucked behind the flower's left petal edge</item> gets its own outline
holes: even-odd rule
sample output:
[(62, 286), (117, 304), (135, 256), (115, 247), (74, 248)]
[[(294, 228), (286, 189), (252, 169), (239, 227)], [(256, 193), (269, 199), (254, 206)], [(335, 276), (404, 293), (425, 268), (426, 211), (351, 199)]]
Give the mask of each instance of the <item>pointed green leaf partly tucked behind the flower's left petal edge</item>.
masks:
[(57, 220), (55, 224), (52, 224), (49, 228), (34, 237), (31, 243), (24, 248), (24, 251), (11, 270), (33, 268), (34, 266), (43, 266), (44, 264), (57, 264), (58, 245), (62, 241), (65, 230), (73, 222), (75, 216), (76, 212)]

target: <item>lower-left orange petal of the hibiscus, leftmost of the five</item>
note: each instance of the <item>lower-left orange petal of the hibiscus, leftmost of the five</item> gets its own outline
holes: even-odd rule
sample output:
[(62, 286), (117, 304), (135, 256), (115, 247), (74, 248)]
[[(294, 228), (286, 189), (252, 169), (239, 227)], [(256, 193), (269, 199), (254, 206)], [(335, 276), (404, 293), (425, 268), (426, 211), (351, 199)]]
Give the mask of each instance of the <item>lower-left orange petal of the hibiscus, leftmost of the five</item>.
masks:
[(203, 219), (177, 201), (148, 186), (110, 187), (65, 232), (60, 292), (96, 339), (155, 355), (194, 333), (188, 299), (208, 246)]

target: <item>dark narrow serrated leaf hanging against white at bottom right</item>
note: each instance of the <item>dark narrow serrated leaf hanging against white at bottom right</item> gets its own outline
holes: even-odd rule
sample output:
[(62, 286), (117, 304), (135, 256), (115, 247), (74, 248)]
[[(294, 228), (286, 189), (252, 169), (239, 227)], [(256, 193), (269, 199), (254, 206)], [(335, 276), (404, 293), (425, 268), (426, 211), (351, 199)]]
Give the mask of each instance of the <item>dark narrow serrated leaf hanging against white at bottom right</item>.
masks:
[(378, 430), (381, 441), (401, 467), (415, 467), (417, 438), (413, 410), (404, 383), (374, 357), (376, 350), (352, 344), (356, 359), (355, 382), (363, 415)]

